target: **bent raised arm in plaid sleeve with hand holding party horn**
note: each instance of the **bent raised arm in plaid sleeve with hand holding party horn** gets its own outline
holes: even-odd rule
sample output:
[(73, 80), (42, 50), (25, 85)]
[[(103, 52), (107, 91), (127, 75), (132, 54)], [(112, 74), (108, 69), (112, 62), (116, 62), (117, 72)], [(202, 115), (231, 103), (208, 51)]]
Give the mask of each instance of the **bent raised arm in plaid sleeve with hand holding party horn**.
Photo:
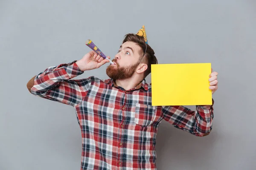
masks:
[(71, 80), (84, 71), (99, 68), (109, 62), (96, 52), (91, 51), (79, 61), (61, 64), (47, 68), (27, 83), (30, 93), (52, 101), (61, 102), (75, 107), (90, 88), (90, 77), (87, 79)]

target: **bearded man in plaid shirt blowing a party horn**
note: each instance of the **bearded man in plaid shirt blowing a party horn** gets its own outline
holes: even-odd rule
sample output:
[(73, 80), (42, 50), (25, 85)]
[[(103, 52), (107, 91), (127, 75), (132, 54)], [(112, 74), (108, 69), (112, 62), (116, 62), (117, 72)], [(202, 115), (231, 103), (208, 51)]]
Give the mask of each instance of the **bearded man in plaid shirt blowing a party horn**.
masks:
[[(151, 105), (145, 77), (157, 59), (145, 34), (138, 34), (126, 35), (115, 65), (106, 70), (111, 79), (71, 80), (109, 62), (91, 51), (78, 61), (47, 68), (27, 84), (32, 94), (75, 108), (82, 135), (81, 170), (155, 170), (156, 134), (163, 119), (195, 136), (212, 129), (212, 105), (196, 106), (196, 111)], [(212, 93), (218, 88), (217, 74), (209, 76)]]

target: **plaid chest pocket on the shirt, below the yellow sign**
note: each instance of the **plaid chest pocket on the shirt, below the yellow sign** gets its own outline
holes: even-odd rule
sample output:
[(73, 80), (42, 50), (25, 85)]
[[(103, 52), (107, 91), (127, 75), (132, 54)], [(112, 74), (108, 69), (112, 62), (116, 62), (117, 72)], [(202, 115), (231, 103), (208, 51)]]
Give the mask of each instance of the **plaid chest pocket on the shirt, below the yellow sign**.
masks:
[(136, 103), (134, 123), (142, 127), (149, 126), (156, 118), (156, 106)]

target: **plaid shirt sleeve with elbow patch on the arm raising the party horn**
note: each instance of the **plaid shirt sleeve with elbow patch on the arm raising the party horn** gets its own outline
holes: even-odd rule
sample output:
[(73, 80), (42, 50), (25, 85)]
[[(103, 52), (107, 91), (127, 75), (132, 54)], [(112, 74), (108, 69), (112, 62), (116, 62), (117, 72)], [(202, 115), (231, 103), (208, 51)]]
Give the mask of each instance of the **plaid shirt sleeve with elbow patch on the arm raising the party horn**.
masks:
[(76, 61), (49, 67), (35, 77), (31, 93), (75, 107), (83, 100), (91, 84), (90, 78), (71, 80), (82, 73)]

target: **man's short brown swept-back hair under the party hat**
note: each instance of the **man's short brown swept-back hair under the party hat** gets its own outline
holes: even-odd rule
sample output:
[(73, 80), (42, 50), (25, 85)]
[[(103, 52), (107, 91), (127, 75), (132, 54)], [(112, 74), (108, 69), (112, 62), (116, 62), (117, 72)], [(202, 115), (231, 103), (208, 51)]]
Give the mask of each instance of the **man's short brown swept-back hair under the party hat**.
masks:
[[(146, 50), (145, 56), (141, 60), (141, 62), (148, 65), (147, 70), (144, 72), (144, 78), (147, 77), (148, 74), (151, 73), (151, 64), (157, 64), (158, 63), (157, 58), (154, 55), (155, 54), (154, 50), (148, 44), (145, 43), (144, 37), (141, 37), (137, 34), (126, 34), (125, 39), (123, 40), (122, 43), (125, 43), (127, 41), (135, 42), (137, 45), (140, 46), (140, 48), (141, 48), (141, 50), (140, 50), (141, 57), (139, 59), (139, 62), (142, 59), (143, 54), (145, 53), (145, 50)], [(146, 45), (147, 45), (147, 48), (146, 48)]]

